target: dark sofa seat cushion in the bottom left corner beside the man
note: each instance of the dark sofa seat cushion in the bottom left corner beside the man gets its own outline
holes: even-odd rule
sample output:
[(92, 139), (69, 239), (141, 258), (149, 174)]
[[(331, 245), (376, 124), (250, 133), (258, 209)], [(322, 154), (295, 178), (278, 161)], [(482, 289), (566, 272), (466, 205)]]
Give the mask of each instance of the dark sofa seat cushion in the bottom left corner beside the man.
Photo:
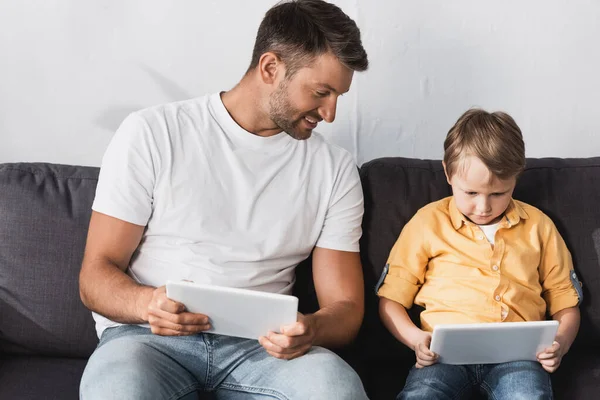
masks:
[(76, 400), (87, 360), (14, 356), (0, 362), (0, 399)]

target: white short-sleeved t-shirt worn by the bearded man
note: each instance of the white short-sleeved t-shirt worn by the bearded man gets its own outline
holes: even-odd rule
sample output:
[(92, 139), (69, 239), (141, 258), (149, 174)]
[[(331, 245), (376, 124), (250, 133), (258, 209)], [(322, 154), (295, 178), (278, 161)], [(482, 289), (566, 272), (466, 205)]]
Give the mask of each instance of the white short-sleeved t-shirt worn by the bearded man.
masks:
[[(94, 211), (147, 226), (127, 273), (289, 294), (313, 247), (359, 251), (363, 195), (345, 150), (261, 137), (220, 95), (135, 112), (102, 160)], [(117, 323), (94, 313), (98, 336)]]

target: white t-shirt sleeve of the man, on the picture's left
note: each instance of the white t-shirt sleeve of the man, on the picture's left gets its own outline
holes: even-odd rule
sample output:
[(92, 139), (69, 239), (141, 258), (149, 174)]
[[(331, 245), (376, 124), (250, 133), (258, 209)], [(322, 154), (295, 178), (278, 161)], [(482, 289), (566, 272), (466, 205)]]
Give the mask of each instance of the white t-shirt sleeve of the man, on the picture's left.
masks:
[(152, 214), (157, 168), (158, 150), (146, 121), (129, 115), (102, 158), (92, 209), (145, 226)]

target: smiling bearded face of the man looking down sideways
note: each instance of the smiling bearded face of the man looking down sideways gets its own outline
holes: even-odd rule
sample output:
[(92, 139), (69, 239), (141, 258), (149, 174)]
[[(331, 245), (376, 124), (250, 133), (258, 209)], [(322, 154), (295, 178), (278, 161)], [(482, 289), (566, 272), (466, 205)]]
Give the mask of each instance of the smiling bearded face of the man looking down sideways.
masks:
[(269, 99), (269, 117), (294, 139), (308, 139), (317, 124), (333, 122), (338, 96), (346, 93), (354, 71), (325, 53), (284, 78)]

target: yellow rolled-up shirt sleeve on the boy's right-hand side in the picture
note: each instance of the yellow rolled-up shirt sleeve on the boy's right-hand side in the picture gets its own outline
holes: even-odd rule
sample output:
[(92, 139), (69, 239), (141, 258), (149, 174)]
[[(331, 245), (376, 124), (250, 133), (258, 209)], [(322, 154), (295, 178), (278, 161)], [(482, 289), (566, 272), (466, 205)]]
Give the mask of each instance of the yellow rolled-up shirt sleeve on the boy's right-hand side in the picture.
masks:
[(573, 268), (571, 253), (548, 217), (544, 219), (543, 235), (540, 283), (548, 313), (554, 315), (580, 303), (581, 284)]

